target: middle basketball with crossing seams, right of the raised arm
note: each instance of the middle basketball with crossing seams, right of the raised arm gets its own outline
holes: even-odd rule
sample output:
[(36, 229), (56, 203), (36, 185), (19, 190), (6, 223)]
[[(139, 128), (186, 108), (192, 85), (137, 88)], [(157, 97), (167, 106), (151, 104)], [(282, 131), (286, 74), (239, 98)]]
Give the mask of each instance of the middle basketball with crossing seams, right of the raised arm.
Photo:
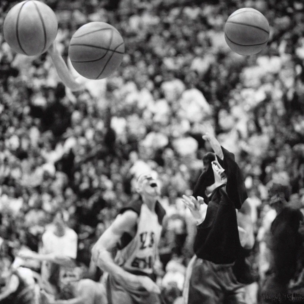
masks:
[(105, 22), (90, 22), (72, 36), (69, 56), (75, 70), (88, 79), (110, 76), (121, 64), (125, 44), (118, 30)]

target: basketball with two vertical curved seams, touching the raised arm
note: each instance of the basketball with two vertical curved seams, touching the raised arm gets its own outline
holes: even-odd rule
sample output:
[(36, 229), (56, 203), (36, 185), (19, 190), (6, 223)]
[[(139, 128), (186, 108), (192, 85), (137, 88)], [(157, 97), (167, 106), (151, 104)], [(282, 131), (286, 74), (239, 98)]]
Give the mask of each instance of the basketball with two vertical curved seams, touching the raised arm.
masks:
[(46, 4), (29, 0), (9, 10), (3, 24), (4, 39), (17, 53), (34, 56), (44, 53), (56, 38), (58, 23)]

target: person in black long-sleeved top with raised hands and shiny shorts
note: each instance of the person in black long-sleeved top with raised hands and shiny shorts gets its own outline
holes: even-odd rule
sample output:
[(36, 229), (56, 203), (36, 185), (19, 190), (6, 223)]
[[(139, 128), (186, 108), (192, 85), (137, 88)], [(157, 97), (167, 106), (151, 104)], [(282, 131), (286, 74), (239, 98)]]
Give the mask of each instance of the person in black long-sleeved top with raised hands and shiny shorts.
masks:
[[(188, 264), (183, 298), (185, 304), (245, 303), (244, 285), (237, 281), (233, 265), (248, 240), (238, 227), (236, 209), (247, 199), (244, 178), (234, 155), (206, 133), (214, 153), (203, 157), (204, 170), (193, 196), (183, 196), (197, 221), (195, 255)], [(200, 205), (206, 203), (205, 218)]]

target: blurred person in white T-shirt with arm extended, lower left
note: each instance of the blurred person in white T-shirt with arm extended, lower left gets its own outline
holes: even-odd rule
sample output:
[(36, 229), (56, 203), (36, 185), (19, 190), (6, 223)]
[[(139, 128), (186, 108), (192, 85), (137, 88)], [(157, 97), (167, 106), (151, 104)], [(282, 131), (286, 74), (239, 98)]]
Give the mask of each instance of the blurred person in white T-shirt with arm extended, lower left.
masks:
[[(64, 212), (58, 211), (52, 225), (43, 233), (42, 250), (19, 254), (22, 258), (32, 258), (42, 262), (41, 277), (43, 288), (58, 297), (64, 284), (75, 269), (77, 256), (77, 233), (67, 227)], [(77, 278), (73, 278), (75, 280)]]

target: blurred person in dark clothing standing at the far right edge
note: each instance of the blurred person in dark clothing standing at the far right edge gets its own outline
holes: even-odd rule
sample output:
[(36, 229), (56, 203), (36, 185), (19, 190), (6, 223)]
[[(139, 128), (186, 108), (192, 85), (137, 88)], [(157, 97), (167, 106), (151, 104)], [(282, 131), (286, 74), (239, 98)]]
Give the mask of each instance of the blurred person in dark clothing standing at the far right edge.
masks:
[(271, 266), (270, 274), (261, 289), (262, 303), (272, 301), (267, 295), (286, 295), (288, 283), (294, 278), (297, 268), (297, 258), (302, 246), (302, 237), (298, 230), (303, 214), (288, 206), (289, 190), (288, 186), (280, 184), (273, 184), (269, 189), (269, 205), (275, 209), (277, 216), (266, 235), (266, 244), (271, 252)]

